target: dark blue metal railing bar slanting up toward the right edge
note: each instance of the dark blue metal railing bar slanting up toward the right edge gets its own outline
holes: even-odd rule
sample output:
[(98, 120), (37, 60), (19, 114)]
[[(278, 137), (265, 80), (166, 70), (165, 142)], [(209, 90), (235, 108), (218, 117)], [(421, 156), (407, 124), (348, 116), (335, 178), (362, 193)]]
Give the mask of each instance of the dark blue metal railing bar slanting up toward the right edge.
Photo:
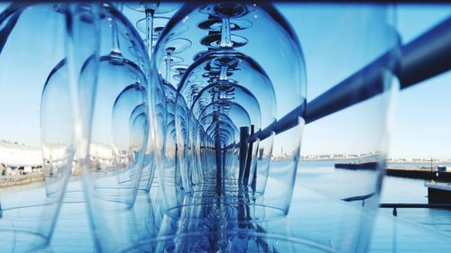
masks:
[[(400, 79), (400, 88), (404, 89), (419, 84), (430, 77), (445, 73), (451, 68), (451, 18), (437, 24), (416, 40), (401, 46), (397, 62), (391, 62), (396, 51), (388, 51), (381, 58), (362, 68), (353, 76), (333, 86), (327, 92), (319, 95), (307, 106), (300, 104), (290, 113), (283, 116), (276, 125), (257, 131), (249, 140), (260, 138), (264, 140), (276, 134), (287, 131), (298, 125), (299, 116), (306, 123), (315, 122), (331, 113), (336, 113), (346, 107), (362, 102), (383, 91), (382, 78), (384, 69), (397, 64), (395, 74)], [(302, 115), (304, 112), (305, 115)]]

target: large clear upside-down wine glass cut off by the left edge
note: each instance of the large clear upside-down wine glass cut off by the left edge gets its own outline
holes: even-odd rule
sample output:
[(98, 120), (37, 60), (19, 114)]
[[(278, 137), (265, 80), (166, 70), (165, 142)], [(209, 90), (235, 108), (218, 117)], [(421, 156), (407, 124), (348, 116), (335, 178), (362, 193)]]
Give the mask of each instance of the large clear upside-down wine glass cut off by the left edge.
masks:
[[(88, 31), (92, 10), (79, 7)], [(67, 11), (67, 5), (14, 3), (0, 14), (0, 117), (11, 122), (0, 130), (2, 251), (32, 252), (48, 243), (77, 167)], [(80, 46), (91, 49), (89, 41)]]

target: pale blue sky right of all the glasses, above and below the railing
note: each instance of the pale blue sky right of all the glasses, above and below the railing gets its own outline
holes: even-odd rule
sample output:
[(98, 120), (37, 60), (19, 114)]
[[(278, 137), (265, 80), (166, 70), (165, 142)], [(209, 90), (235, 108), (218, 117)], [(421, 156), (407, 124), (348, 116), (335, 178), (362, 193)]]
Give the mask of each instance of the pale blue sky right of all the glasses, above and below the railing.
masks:
[[(451, 15), (451, 5), (400, 8), (404, 42)], [(451, 158), (451, 72), (402, 91), (391, 131), (391, 157)]]

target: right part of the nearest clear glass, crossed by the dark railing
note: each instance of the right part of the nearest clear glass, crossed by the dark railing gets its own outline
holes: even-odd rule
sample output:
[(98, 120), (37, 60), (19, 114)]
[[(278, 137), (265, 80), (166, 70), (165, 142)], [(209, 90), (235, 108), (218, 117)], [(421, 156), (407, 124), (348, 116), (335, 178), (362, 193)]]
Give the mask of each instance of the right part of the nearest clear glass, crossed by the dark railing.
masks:
[[(293, 20), (308, 66), (297, 185), (330, 200), (298, 203), (318, 210), (308, 212), (305, 222), (329, 221), (321, 237), (313, 227), (298, 234), (341, 252), (366, 252), (384, 175), (391, 96), (398, 89), (392, 72), (400, 43), (394, 10), (391, 5), (300, 4), (296, 12), (292, 5), (279, 7)], [(334, 208), (335, 202), (343, 208)]]

